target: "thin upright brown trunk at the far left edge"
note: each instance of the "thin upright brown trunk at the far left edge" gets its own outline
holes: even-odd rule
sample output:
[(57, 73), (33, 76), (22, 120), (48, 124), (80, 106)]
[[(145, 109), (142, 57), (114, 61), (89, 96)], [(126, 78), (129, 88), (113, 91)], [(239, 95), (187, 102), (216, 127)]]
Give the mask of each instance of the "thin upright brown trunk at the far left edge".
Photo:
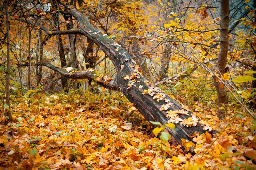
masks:
[(9, 122), (12, 122), (11, 106), (10, 106), (10, 22), (8, 14), (8, 1), (5, 1), (5, 15), (6, 15), (6, 104), (8, 105), (7, 116)]

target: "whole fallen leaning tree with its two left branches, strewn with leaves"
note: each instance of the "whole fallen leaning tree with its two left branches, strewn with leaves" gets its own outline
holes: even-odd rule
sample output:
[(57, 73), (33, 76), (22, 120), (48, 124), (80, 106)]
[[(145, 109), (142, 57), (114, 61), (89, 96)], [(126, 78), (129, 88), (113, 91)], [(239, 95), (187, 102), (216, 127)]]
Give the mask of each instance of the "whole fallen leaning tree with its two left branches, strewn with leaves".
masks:
[[(56, 67), (50, 63), (43, 63), (42, 65), (58, 71), (67, 78), (89, 78), (108, 89), (123, 92), (149, 122), (160, 122), (162, 125), (170, 122), (175, 123), (175, 129), (168, 127), (164, 129), (171, 134), (171, 142), (174, 145), (181, 144), (181, 139), (190, 140), (190, 135), (195, 132), (201, 134), (205, 133), (207, 129), (211, 129), (207, 124), (200, 124), (199, 119), (188, 111), (187, 107), (180, 105), (166, 93), (147, 82), (142, 76), (140, 68), (128, 52), (115, 41), (92, 27), (83, 13), (72, 9), (68, 11), (68, 14), (79, 22), (79, 26), (76, 29), (51, 32), (45, 28), (40, 28), (51, 35), (78, 33), (86, 36), (108, 55), (116, 68), (116, 78), (113, 80), (106, 77), (95, 78), (95, 74), (91, 72), (93, 70), (68, 72), (66, 69)], [(157, 127), (159, 125), (152, 124), (152, 126)], [(212, 133), (216, 133), (216, 131), (213, 130)]]

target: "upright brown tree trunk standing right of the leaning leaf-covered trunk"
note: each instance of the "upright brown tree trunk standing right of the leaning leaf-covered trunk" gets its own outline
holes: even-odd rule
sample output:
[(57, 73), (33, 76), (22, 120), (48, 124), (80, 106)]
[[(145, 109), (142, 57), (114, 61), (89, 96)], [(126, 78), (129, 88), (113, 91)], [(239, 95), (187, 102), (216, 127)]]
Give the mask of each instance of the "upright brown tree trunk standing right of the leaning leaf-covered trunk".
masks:
[[(225, 73), (225, 67), (228, 55), (228, 21), (229, 21), (229, 2), (221, 0), (220, 2), (220, 52), (218, 56), (217, 69), (220, 75)], [(225, 86), (215, 78), (215, 86), (218, 97), (217, 117), (223, 119), (227, 111), (227, 92)]]

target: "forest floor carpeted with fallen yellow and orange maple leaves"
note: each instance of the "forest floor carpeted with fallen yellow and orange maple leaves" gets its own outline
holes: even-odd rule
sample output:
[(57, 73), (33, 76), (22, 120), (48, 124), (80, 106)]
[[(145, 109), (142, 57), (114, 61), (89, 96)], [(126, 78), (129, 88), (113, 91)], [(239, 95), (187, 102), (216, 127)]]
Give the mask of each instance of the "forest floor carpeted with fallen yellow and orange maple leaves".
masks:
[(196, 113), (221, 133), (174, 146), (118, 92), (34, 92), (28, 102), (15, 98), (12, 124), (1, 118), (0, 169), (256, 169), (256, 125), (241, 107), (224, 121)]

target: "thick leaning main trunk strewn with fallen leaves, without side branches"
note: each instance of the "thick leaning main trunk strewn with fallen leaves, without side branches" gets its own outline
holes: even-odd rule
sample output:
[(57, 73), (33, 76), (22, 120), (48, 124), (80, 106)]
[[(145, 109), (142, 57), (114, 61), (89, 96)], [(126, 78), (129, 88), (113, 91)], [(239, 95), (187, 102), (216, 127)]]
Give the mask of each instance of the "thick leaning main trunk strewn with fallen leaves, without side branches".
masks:
[[(108, 55), (116, 67), (117, 75), (114, 81), (117, 83), (118, 88), (148, 121), (160, 122), (164, 125), (169, 122), (175, 122), (175, 119), (178, 120), (175, 124), (175, 129), (165, 128), (165, 131), (172, 135), (172, 144), (181, 144), (182, 138), (190, 140), (190, 135), (195, 133), (195, 131), (200, 134), (205, 133), (205, 130), (203, 129), (204, 125), (201, 125), (199, 119), (192, 115), (191, 112), (188, 111), (188, 115), (182, 113), (179, 114), (179, 112), (181, 112), (180, 110), (185, 110), (186, 107), (182, 107), (176, 100), (172, 99), (164, 92), (161, 92), (157, 87), (146, 82), (146, 79), (141, 76), (140, 69), (136, 67), (131, 56), (119, 44), (108, 39), (106, 36), (103, 36), (100, 31), (93, 28), (87, 17), (81, 12), (70, 10), (68, 13), (75, 17), (79, 22), (79, 32), (93, 41), (106, 55)], [(124, 77), (128, 77), (128, 79), (124, 79)], [(163, 99), (156, 100), (157, 96), (162, 96)], [(166, 111), (161, 110), (161, 106), (163, 107), (163, 105), (166, 105), (167, 103), (170, 104), (170, 107), (167, 110), (179, 110), (177, 111), (177, 117), (166, 117), (167, 113)], [(188, 127), (188, 124), (181, 124), (181, 121), (184, 122), (185, 120), (191, 120), (193, 118), (196, 119), (194, 123), (195, 126)], [(158, 125), (152, 124), (152, 126), (157, 127)]]

